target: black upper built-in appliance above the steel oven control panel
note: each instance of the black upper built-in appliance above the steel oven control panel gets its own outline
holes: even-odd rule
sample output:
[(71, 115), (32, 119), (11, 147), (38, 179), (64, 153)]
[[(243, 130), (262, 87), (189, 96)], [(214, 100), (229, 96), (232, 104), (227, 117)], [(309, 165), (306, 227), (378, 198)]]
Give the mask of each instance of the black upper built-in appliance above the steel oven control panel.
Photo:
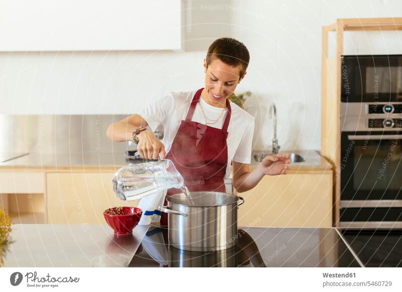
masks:
[(342, 56), (341, 74), (342, 102), (402, 101), (402, 55)]

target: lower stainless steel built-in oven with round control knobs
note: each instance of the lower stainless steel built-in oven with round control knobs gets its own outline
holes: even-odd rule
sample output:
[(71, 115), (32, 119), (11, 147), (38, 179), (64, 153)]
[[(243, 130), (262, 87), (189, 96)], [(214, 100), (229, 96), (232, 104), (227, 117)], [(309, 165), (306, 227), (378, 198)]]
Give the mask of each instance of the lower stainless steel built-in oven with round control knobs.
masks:
[(341, 104), (341, 227), (402, 227), (402, 114), (388, 106)]

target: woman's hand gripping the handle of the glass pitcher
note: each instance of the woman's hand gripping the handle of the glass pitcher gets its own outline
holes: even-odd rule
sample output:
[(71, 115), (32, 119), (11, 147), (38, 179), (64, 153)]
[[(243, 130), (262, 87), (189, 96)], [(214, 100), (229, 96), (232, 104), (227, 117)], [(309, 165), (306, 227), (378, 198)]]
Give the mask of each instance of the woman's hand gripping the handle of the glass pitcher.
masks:
[(142, 131), (137, 137), (137, 150), (143, 159), (157, 160), (159, 154), (161, 159), (165, 159), (165, 146), (151, 131)]

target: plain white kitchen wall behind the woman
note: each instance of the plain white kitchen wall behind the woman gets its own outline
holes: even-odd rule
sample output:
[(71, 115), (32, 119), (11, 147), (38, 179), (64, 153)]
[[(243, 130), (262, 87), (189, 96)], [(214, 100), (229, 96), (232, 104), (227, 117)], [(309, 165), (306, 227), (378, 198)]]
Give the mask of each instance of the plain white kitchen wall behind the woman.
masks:
[[(282, 149), (319, 149), (322, 26), (337, 18), (402, 16), (397, 0), (227, 0), (214, 9), (210, 5), (216, 1), (183, 2), (182, 52), (0, 53), (0, 113), (134, 113), (167, 91), (202, 87), (208, 45), (232, 36), (251, 54), (237, 92), (254, 93), (246, 105), (250, 111), (258, 108), (255, 148), (270, 144), (272, 123), (266, 112), (275, 102)], [(395, 32), (349, 35), (346, 54), (402, 54), (402, 39)]]

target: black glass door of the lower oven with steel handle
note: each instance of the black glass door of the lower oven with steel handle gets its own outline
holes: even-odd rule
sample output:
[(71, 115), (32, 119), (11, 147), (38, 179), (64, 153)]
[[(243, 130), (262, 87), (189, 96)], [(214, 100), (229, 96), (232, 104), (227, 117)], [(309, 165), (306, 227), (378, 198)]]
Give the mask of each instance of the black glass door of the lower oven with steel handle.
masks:
[(402, 200), (402, 133), (342, 132), (341, 200)]

